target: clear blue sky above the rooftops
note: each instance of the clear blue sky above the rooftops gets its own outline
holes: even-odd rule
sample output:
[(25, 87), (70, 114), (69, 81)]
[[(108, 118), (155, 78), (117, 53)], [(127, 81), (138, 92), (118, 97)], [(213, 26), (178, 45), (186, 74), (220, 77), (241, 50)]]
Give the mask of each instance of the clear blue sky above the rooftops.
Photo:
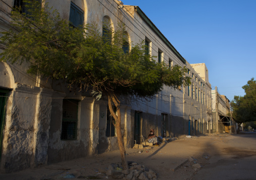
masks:
[(255, 0), (122, 0), (139, 6), (190, 64), (205, 63), (231, 101), (256, 69)]

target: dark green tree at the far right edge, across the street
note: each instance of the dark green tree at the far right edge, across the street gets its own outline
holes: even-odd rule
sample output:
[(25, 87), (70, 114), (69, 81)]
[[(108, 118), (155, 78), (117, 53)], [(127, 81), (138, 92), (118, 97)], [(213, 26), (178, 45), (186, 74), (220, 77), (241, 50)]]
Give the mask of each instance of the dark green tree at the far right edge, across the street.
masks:
[(242, 123), (256, 121), (256, 81), (251, 78), (242, 88), (245, 95), (234, 96), (234, 100), (231, 102), (233, 116), (238, 123), (237, 132)]

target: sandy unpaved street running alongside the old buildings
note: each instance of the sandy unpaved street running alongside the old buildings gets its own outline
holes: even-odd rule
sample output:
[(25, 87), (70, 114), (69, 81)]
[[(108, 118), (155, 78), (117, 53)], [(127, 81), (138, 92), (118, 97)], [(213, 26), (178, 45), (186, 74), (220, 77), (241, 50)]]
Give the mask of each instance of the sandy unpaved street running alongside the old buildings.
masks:
[[(157, 179), (256, 179), (256, 133), (181, 136), (151, 149), (126, 149), (126, 153), (128, 161), (152, 169)], [(73, 179), (113, 179), (105, 174), (111, 163), (120, 164), (118, 150), (0, 174), (0, 179), (69, 179), (68, 174)]]

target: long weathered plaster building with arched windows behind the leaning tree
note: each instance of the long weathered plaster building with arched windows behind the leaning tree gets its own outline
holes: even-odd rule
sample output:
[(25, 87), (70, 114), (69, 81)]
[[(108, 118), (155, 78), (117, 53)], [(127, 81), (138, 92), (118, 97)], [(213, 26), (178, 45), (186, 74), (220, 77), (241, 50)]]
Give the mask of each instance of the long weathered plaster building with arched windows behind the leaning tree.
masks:
[[(164, 87), (152, 101), (121, 104), (126, 148), (141, 143), (151, 128), (156, 135), (175, 137), (212, 132), (212, 94), (208, 69), (189, 64), (138, 6), (113, 0), (46, 1), (76, 27), (103, 21), (126, 25), (129, 41), (145, 41), (148, 53), (173, 65), (188, 68), (191, 85)], [(0, 2), (0, 31), (9, 30), (11, 11), (22, 1)], [(0, 51), (5, 50), (4, 45)], [(0, 62), (0, 117), (2, 172), (37, 167), (118, 148), (107, 101), (89, 93), (70, 92), (61, 81), (46, 81), (26, 73), (28, 65)]]

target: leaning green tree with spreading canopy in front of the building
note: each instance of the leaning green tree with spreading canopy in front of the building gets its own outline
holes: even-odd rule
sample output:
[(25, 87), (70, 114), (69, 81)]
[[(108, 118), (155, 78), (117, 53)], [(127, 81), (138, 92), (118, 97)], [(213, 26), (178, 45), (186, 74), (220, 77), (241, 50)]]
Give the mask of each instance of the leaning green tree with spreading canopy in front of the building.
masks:
[[(24, 1), (27, 14), (12, 12), (15, 30), (4, 32), (6, 45), (2, 61), (30, 64), (28, 73), (51, 79), (62, 79), (71, 90), (90, 91), (96, 98), (106, 97), (115, 119), (114, 126), (121, 153), (122, 166), (128, 168), (121, 134), (120, 103), (132, 98), (153, 98), (163, 86), (174, 89), (188, 85), (185, 67), (156, 63), (146, 53), (145, 42), (127, 44), (125, 25), (112, 31), (104, 23), (103, 34), (96, 24), (74, 28), (62, 20), (56, 10), (37, 1)], [(130, 51), (124, 51), (123, 45)], [(127, 47), (126, 47), (127, 49)], [(116, 108), (116, 113), (113, 110)]]

